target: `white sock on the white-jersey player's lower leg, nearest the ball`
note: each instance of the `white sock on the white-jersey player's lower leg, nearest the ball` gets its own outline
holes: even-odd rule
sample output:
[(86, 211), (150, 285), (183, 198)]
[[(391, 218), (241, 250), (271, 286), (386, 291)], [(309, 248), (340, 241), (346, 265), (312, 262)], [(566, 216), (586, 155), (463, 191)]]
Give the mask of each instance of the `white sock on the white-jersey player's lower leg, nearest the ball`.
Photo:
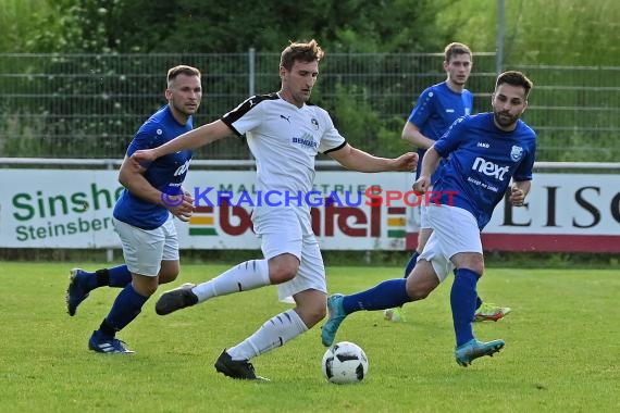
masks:
[(295, 310), (287, 310), (266, 321), (255, 334), (226, 350), (233, 360), (250, 360), (293, 340), (308, 327)]

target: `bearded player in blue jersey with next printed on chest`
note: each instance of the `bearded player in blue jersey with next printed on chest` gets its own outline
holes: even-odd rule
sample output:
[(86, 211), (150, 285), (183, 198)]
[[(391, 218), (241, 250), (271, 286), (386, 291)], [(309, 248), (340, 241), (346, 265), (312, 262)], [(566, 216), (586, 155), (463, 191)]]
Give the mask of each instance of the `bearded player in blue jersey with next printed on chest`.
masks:
[(384, 310), (426, 298), (455, 273), (450, 305), (456, 333), (455, 358), (468, 366), (483, 355), (504, 348), (504, 340), (479, 341), (472, 322), (476, 285), (484, 272), (480, 231), (493, 210), (508, 192), (516, 206), (523, 205), (530, 191), (536, 150), (535, 133), (521, 120), (528, 107), (532, 83), (520, 72), (505, 72), (497, 78), (493, 113), (457, 120), (426, 152), (413, 189), (426, 191), (442, 159), (433, 190), (438, 204), (429, 206), (433, 234), (408, 278), (389, 279), (363, 292), (327, 299), (328, 318), (321, 331), (331, 346), (340, 323), (360, 310)]

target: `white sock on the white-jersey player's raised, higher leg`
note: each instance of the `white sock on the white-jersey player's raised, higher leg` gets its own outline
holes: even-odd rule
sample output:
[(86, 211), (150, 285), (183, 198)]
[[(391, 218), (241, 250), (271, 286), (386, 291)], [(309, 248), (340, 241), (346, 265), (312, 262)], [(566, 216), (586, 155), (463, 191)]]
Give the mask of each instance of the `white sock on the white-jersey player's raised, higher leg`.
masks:
[(198, 297), (198, 302), (202, 302), (213, 297), (248, 291), (270, 284), (268, 261), (251, 260), (197, 285), (191, 291)]

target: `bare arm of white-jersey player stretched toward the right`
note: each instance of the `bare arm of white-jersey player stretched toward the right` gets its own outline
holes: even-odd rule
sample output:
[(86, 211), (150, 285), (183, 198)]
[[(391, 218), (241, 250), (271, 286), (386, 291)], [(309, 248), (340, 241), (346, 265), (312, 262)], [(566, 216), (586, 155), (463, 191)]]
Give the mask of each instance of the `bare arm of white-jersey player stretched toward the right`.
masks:
[(413, 152), (407, 152), (396, 159), (380, 158), (347, 143), (328, 154), (347, 170), (359, 172), (412, 172), (418, 166), (418, 153)]

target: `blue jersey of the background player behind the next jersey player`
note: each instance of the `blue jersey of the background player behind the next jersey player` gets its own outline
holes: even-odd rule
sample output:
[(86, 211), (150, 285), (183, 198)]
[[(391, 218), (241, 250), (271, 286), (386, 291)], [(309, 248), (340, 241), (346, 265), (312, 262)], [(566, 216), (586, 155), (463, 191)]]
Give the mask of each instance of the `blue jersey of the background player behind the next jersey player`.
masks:
[[(408, 121), (418, 126), (422, 135), (437, 140), (457, 118), (469, 115), (472, 111), (473, 95), (471, 91), (463, 89), (459, 93), (451, 90), (446, 82), (442, 82), (429, 87), (420, 95)], [(416, 177), (420, 176), (424, 153), (426, 153), (425, 149), (418, 149), (420, 160)]]

